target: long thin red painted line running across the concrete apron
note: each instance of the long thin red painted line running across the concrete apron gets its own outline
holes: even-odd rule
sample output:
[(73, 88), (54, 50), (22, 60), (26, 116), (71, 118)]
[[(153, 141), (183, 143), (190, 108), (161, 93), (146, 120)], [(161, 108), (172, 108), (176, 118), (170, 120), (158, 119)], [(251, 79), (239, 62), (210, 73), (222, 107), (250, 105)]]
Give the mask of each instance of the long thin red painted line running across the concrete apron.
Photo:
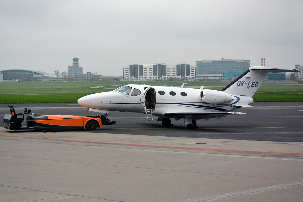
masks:
[[(4, 136), (4, 137), (23, 137), (23, 136), (11, 136), (11, 135), (0, 135), (0, 136)], [(239, 151), (239, 152), (252, 152), (252, 153), (276, 153), (276, 154), (296, 154), (296, 155), (303, 155), (303, 153), (282, 153), (282, 152), (245, 151), (245, 150), (220, 150), (220, 149), (181, 147), (181, 146), (160, 146), (160, 145), (145, 145), (145, 144), (93, 142), (93, 141), (84, 141), (84, 140), (64, 140), (64, 139), (42, 138), (42, 137), (23, 137), (23, 138), (42, 139), (42, 140), (59, 140), (59, 141), (70, 141), (70, 142), (87, 142), (87, 143), (99, 143), (99, 144), (119, 144), (119, 145), (131, 145), (131, 146), (155, 146), (155, 147), (180, 148), (180, 149), (195, 149), (195, 150)]]

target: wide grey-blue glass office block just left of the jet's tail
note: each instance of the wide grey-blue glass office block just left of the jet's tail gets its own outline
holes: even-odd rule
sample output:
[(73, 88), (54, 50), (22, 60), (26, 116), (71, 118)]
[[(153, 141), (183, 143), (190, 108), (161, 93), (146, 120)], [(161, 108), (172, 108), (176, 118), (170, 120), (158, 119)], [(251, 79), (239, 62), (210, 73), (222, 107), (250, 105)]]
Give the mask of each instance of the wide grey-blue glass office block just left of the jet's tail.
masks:
[(250, 68), (250, 60), (201, 60), (196, 61), (197, 74), (223, 74), (226, 72), (245, 72)]

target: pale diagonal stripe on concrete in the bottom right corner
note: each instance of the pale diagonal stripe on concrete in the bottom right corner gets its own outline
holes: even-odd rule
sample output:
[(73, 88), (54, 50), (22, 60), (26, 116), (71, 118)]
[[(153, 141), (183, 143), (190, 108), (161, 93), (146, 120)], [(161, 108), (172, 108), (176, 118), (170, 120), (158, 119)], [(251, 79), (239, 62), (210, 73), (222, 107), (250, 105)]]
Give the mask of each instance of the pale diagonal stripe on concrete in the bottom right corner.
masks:
[(226, 193), (226, 194), (218, 194), (218, 195), (207, 196), (207, 197), (181, 200), (181, 201), (178, 201), (178, 202), (211, 201), (211, 200), (218, 200), (218, 199), (224, 199), (224, 198), (243, 196), (243, 195), (248, 195), (248, 194), (256, 194), (256, 193), (265, 192), (265, 191), (284, 189), (284, 188), (295, 187), (295, 186), (299, 186), (299, 185), (303, 185), (303, 180), (297, 181), (297, 182), (285, 183), (285, 184), (278, 184), (278, 185), (274, 185), (274, 186), (261, 187), (261, 188), (256, 188), (256, 189), (236, 191), (236, 192), (231, 192), (231, 193)]

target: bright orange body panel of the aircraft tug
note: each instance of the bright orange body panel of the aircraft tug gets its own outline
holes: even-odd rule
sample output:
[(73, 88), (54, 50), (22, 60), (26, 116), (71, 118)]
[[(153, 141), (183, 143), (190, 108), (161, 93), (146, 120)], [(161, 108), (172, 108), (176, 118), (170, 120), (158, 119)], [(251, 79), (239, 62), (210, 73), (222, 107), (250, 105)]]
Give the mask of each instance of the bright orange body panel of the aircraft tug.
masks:
[(48, 120), (35, 120), (37, 123), (44, 123), (57, 126), (83, 126), (89, 120), (96, 120), (102, 128), (102, 121), (99, 118), (85, 117), (85, 116), (68, 116), (68, 115), (44, 115), (48, 117)]

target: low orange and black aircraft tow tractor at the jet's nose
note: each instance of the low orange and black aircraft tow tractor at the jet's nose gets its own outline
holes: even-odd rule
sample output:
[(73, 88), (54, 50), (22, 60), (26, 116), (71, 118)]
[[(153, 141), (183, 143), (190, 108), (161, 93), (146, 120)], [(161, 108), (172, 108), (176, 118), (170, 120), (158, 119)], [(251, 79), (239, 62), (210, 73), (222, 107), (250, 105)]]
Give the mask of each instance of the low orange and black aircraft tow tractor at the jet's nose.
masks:
[[(11, 114), (6, 114), (3, 118), (3, 127), (9, 130), (67, 130), (85, 129), (95, 130), (102, 125), (116, 124), (115, 121), (108, 120), (105, 115), (99, 116), (70, 116), (70, 115), (39, 115), (31, 113), (31, 109), (24, 109), (24, 113), (16, 114), (13, 106), (9, 106)], [(22, 126), (24, 114), (30, 114), (26, 118), (26, 126)], [(22, 118), (18, 118), (22, 115)]]

